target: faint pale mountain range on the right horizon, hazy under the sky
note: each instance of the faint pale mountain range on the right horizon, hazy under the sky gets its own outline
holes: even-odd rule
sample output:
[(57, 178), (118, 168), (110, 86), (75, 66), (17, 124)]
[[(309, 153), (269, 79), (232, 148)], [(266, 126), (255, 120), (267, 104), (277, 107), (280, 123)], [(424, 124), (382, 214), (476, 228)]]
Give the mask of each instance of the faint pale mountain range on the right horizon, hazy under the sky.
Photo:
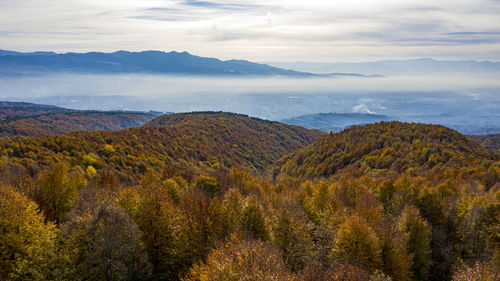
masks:
[(269, 65), (311, 73), (363, 73), (371, 75), (415, 75), (429, 73), (500, 73), (500, 62), (441, 61), (430, 58), (382, 60), (358, 63), (327, 62), (268, 62)]

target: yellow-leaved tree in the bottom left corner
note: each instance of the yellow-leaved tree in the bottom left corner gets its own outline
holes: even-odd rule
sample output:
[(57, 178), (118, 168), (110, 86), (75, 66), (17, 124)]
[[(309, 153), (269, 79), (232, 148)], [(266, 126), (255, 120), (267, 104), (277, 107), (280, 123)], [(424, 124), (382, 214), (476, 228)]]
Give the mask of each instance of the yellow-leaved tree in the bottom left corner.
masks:
[(53, 280), (57, 230), (38, 206), (0, 185), (0, 280)]

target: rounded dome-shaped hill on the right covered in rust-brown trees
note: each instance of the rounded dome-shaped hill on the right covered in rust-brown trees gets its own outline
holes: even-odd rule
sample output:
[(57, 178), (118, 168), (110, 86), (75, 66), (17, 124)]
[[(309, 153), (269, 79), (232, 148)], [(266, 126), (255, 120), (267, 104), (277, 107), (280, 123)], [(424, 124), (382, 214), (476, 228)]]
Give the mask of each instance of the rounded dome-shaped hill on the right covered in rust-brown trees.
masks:
[(419, 174), (465, 171), (499, 159), (468, 137), (442, 126), (381, 122), (323, 136), (281, 159), (274, 173), (296, 177), (328, 177), (343, 170), (360, 175), (387, 175), (391, 171)]

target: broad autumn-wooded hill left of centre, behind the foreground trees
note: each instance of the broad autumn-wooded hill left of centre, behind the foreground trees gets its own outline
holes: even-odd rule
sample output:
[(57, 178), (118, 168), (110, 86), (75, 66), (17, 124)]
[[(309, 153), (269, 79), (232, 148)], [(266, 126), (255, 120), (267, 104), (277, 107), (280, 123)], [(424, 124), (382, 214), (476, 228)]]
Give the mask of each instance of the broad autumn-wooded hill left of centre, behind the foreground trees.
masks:
[(321, 134), (236, 114), (173, 114), (118, 131), (3, 138), (0, 159), (32, 171), (58, 161), (82, 169), (91, 165), (116, 172), (124, 181), (136, 179), (147, 168), (170, 166), (191, 171), (243, 166), (261, 172)]

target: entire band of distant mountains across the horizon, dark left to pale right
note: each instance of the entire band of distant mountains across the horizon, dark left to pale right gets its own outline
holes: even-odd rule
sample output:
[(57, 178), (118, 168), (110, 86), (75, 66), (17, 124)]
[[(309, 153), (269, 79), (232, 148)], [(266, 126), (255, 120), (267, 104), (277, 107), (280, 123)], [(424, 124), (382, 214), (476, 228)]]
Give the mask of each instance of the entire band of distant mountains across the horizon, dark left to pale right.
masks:
[[(293, 70), (292, 70), (293, 69)], [(429, 73), (500, 73), (500, 62), (441, 61), (431, 58), (374, 62), (268, 62), (219, 60), (188, 52), (143, 51), (55, 53), (0, 50), (0, 75), (47, 72), (156, 73), (179, 75), (381, 77)]]

